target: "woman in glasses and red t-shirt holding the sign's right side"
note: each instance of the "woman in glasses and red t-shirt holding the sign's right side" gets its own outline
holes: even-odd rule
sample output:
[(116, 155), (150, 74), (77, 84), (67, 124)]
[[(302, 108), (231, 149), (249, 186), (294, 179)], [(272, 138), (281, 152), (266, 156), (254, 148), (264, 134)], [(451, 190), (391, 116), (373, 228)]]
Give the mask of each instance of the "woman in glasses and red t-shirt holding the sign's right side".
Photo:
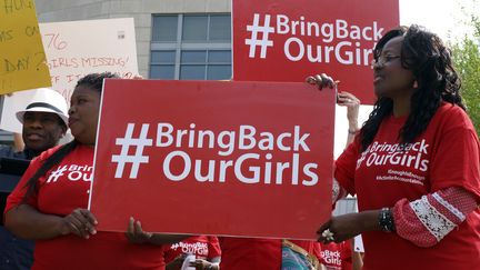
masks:
[(480, 147), (450, 51), (412, 26), (387, 32), (373, 56), (378, 100), (334, 172), (337, 194), (357, 194), (360, 211), (331, 218), (319, 240), (362, 233), (367, 270), (480, 269)]

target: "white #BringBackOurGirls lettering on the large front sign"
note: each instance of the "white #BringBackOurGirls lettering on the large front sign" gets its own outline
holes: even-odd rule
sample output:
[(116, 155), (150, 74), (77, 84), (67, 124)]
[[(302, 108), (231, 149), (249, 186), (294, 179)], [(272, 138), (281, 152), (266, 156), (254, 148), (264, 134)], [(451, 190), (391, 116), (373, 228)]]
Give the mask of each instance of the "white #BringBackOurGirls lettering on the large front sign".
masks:
[[(149, 123), (142, 123), (139, 137), (133, 137), (136, 124), (128, 123), (123, 138), (117, 138), (116, 144), (121, 146), (120, 154), (113, 154), (111, 161), (117, 163), (114, 178), (123, 178), (126, 164), (131, 164), (129, 179), (137, 179), (141, 164), (149, 163), (149, 157), (143, 156), (146, 147), (153, 146), (153, 139), (148, 138)], [(242, 124), (237, 131), (221, 131), (216, 134), (212, 130), (196, 130), (191, 123), (190, 129), (176, 129), (171, 123), (161, 122), (157, 126), (157, 148), (176, 147), (181, 150), (171, 151), (163, 159), (162, 172), (166, 179), (182, 181), (194, 177), (199, 182), (226, 182), (227, 173), (233, 172), (234, 178), (243, 183), (316, 186), (319, 181), (318, 163), (301, 161), (302, 152), (310, 152), (308, 138), (310, 133), (302, 133), (299, 126), (293, 127), (292, 132), (283, 132), (274, 136), (270, 132), (258, 132), (253, 126)], [(130, 147), (134, 153), (130, 154)], [(291, 161), (272, 162), (272, 153), (261, 156), (257, 152), (248, 152), (236, 160), (192, 160), (188, 151), (194, 149), (220, 149), (219, 157), (227, 157), (234, 150), (258, 151), (284, 151), (291, 152)], [(181, 171), (176, 173), (171, 170), (171, 162), (179, 160), (182, 164)], [(248, 164), (247, 164), (248, 163)], [(256, 166), (251, 166), (256, 163)], [(290, 172), (288, 180), (284, 174)]]

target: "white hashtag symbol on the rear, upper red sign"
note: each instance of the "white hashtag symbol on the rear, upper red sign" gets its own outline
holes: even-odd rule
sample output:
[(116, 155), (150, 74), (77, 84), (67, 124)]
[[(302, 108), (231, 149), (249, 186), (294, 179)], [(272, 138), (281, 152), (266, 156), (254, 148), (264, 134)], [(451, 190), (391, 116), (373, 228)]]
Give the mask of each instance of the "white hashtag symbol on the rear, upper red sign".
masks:
[[(264, 24), (260, 26), (260, 14), (253, 16), (253, 26), (247, 26), (247, 31), (251, 32), (251, 38), (246, 40), (246, 44), (250, 46), (250, 58), (256, 57), (257, 47), (260, 47), (260, 58), (267, 58), (268, 47), (273, 47), (273, 41), (269, 40), (269, 33), (273, 33), (274, 29), (270, 27), (270, 16), (266, 16)], [(262, 33), (262, 39), (258, 34)]]

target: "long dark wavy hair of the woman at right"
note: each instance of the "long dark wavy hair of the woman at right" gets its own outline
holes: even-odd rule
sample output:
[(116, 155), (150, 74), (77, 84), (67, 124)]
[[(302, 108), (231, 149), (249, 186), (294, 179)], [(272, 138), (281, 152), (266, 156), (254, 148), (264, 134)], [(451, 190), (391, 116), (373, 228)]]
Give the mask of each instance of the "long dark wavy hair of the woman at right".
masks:
[[(413, 142), (430, 123), (442, 101), (466, 109), (460, 96), (460, 78), (452, 67), (450, 50), (441, 39), (419, 26), (399, 27), (387, 32), (377, 43), (373, 57), (377, 60), (383, 47), (393, 38), (403, 37), (401, 64), (409, 69), (418, 88), (410, 101), (410, 114), (400, 130), (401, 143)], [(381, 97), (361, 129), (361, 146), (364, 151), (377, 134), (382, 120), (392, 113), (393, 101)]]

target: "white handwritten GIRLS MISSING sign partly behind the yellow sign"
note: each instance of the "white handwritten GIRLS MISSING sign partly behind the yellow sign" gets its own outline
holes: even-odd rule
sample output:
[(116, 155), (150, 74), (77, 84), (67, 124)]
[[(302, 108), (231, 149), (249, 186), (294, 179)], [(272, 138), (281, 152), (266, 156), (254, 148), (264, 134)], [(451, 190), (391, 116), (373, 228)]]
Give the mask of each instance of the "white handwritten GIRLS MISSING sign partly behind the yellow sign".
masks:
[[(70, 103), (78, 79), (93, 72), (138, 74), (133, 19), (106, 19), (40, 23), (52, 89)], [(0, 42), (1, 46), (1, 42)], [(47, 66), (46, 66), (47, 67)], [(4, 98), (0, 128), (21, 132), (13, 117), (33, 98), (34, 90)]]

